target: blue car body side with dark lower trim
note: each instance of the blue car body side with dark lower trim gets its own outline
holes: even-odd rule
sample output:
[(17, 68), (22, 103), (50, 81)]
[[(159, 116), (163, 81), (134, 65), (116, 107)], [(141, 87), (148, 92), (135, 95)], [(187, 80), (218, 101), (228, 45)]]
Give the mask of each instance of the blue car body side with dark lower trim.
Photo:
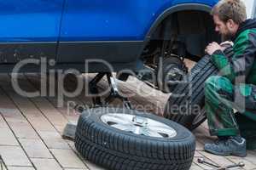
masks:
[(179, 8), (208, 10), (217, 2), (0, 0), (0, 64), (46, 56), (68, 67), (82, 66), (84, 59), (134, 67), (150, 31), (165, 14)]

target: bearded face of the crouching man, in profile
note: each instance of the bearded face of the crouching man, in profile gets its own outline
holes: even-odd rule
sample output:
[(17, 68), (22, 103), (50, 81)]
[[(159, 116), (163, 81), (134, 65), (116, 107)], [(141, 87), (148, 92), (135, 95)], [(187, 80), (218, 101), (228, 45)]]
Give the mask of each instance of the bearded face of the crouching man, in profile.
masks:
[(215, 23), (215, 31), (218, 31), (218, 33), (224, 37), (224, 40), (229, 40), (230, 37), (234, 35), (230, 24), (228, 22), (224, 23), (222, 20), (219, 20), (217, 14), (213, 15), (213, 20)]

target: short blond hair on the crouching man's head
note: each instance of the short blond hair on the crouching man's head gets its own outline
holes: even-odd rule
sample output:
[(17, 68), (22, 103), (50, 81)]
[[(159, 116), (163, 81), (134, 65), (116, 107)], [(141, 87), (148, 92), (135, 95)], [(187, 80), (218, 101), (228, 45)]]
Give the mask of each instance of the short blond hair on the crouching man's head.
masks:
[(233, 20), (236, 24), (241, 24), (247, 19), (246, 6), (240, 0), (220, 0), (213, 8), (212, 15), (218, 15), (218, 18), (224, 23)]

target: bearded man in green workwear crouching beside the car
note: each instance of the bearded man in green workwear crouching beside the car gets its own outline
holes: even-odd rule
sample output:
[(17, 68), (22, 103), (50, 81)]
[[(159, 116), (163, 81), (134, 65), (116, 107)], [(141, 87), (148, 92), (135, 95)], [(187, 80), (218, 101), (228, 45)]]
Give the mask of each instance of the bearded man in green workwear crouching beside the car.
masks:
[[(215, 30), (234, 42), (234, 55), (223, 53), (222, 44), (210, 43), (206, 53), (212, 56), (220, 76), (205, 83), (207, 121), (211, 135), (218, 136), (205, 150), (219, 156), (246, 156), (246, 139), (241, 138), (235, 112), (255, 110), (256, 100), (256, 20), (246, 20), (241, 0), (220, 0), (212, 8)], [(256, 119), (256, 110), (255, 119)]]

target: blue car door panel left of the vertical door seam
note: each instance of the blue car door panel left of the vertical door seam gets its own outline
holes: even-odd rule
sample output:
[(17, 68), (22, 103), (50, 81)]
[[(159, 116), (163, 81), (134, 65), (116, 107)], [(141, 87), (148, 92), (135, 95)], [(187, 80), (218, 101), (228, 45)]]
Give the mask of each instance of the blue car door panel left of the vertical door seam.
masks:
[(0, 0), (0, 63), (55, 59), (64, 0)]

